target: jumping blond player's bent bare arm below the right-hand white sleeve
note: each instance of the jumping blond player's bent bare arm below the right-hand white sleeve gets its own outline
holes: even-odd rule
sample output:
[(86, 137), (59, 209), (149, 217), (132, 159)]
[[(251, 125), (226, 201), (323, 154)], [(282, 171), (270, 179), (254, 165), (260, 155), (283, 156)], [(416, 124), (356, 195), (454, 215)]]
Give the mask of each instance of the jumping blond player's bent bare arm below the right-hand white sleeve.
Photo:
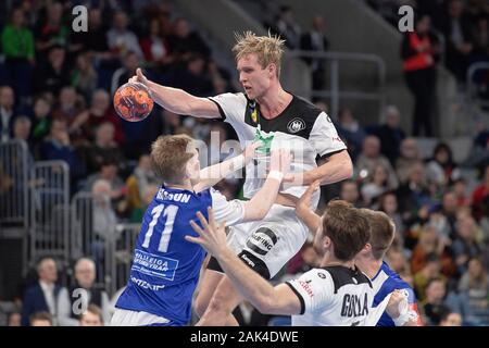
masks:
[(333, 154), (318, 167), (303, 173), (303, 184), (311, 185), (321, 181), (321, 185), (334, 184), (353, 175), (353, 164), (347, 150)]

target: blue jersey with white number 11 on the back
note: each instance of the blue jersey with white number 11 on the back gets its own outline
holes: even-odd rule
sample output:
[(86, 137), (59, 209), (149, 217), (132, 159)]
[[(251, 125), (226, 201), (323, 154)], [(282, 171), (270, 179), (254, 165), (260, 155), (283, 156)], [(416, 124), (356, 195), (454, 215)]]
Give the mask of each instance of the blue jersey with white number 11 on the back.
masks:
[(129, 281), (116, 308), (148, 312), (179, 325), (190, 321), (192, 295), (206, 252), (185, 236), (198, 236), (189, 222), (199, 223), (198, 211), (208, 219), (208, 207), (213, 207), (217, 221), (234, 224), (243, 216), (239, 201), (227, 202), (213, 189), (196, 194), (160, 188), (142, 219)]

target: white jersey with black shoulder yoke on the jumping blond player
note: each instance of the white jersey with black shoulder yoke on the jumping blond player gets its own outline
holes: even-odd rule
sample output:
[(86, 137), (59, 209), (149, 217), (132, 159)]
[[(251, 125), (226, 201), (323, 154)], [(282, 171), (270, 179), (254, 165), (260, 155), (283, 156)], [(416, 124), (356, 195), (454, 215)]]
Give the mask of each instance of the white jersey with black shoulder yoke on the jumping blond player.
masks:
[[(273, 120), (262, 117), (259, 104), (248, 99), (242, 92), (223, 94), (210, 99), (217, 104), (224, 121), (236, 130), (242, 148), (256, 139), (259, 132), (262, 137), (272, 139), (268, 150), (269, 147), (290, 149), (293, 156), (291, 173), (317, 167), (317, 156), (333, 154), (347, 148), (329, 116), (300, 97), (293, 96), (290, 104)], [(269, 151), (267, 153), (269, 154)], [(265, 154), (264, 162), (266, 161), (269, 161), (269, 157)], [(263, 167), (261, 164), (263, 163), (251, 161), (246, 167), (244, 197), (247, 198), (253, 197), (266, 178), (266, 172), (261, 170)], [(306, 187), (285, 186), (281, 192), (300, 197), (305, 189)], [(315, 207), (318, 199), (319, 191), (316, 191)]]

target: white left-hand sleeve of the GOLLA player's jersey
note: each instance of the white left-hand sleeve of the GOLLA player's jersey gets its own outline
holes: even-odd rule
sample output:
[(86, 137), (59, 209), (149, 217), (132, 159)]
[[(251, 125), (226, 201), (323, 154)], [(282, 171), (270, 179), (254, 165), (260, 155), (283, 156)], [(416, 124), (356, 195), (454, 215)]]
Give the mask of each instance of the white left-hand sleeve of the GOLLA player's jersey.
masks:
[(317, 312), (328, 306), (335, 291), (331, 275), (313, 269), (299, 278), (286, 282), (301, 302), (301, 314)]

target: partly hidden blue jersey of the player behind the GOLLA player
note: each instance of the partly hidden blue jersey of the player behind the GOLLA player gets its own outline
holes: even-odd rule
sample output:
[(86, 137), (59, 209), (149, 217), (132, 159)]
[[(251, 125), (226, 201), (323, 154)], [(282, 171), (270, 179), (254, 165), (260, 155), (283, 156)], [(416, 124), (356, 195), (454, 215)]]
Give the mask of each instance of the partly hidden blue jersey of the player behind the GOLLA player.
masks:
[[(374, 307), (377, 307), (387, 295), (392, 293), (393, 290), (404, 289), (408, 294), (408, 302), (410, 310), (416, 311), (417, 314), (417, 302), (416, 297), (412, 287), (404, 282), (398, 273), (392, 271), (386, 261), (383, 262), (383, 265), (378, 273), (372, 279), (372, 285), (374, 286), (375, 297), (374, 297)], [(380, 316), (377, 326), (396, 326), (392, 319), (390, 319), (387, 312), (384, 312)]]

